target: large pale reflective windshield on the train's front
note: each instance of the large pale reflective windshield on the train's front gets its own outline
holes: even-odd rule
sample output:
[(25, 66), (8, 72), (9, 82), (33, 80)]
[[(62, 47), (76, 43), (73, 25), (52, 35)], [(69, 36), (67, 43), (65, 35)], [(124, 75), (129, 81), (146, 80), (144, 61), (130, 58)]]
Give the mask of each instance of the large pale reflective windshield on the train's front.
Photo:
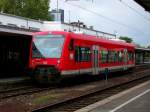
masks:
[(63, 35), (36, 35), (32, 43), (33, 58), (60, 58)]

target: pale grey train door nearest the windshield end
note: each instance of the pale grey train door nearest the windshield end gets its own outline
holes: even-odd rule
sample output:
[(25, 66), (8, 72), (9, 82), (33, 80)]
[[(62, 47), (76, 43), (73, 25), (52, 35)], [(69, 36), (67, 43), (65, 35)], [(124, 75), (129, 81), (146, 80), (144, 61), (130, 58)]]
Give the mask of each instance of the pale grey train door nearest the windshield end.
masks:
[(93, 64), (92, 71), (93, 71), (93, 74), (98, 74), (98, 72), (99, 72), (99, 46), (94, 45), (92, 47), (92, 53), (93, 53), (93, 56), (92, 56), (92, 64)]

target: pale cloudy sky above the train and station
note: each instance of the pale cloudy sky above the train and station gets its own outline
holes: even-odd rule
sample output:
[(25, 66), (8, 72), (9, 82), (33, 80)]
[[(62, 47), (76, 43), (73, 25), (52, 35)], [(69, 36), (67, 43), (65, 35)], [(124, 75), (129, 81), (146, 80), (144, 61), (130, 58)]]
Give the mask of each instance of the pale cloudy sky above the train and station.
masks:
[[(50, 9), (57, 7), (51, 0)], [(133, 0), (58, 0), (65, 22), (82, 21), (95, 30), (128, 36), (142, 46), (150, 45), (150, 13)]]

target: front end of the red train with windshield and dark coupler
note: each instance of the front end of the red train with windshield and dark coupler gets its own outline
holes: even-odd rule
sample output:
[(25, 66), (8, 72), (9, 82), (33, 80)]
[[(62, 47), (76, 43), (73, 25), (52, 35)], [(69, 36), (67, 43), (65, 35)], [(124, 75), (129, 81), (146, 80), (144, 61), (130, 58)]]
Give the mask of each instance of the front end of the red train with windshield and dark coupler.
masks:
[(30, 66), (38, 83), (59, 82), (59, 64), (64, 39), (62, 34), (48, 32), (36, 33), (33, 36)]

